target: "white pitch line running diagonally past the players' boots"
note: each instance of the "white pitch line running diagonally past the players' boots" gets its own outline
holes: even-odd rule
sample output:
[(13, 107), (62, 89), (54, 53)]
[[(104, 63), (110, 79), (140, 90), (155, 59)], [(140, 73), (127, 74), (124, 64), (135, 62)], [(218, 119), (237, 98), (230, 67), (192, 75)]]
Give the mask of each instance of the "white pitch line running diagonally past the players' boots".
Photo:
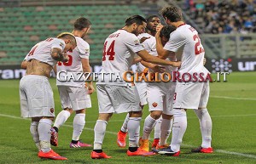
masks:
[[(11, 115), (4, 115), (4, 114), (0, 114), (0, 116), (5, 116), (5, 117), (9, 117), (9, 118), (14, 118), (14, 119), (30, 121), (30, 119), (24, 119), (24, 118), (21, 118), (20, 116), (11, 116)], [(63, 127), (73, 127), (73, 126), (71, 126), (71, 125), (63, 125)], [(89, 128), (89, 127), (84, 127), (84, 129), (85, 130), (94, 131), (93, 128)], [(106, 133), (117, 135), (117, 132), (106, 131)], [(195, 147), (194, 145), (189, 145), (189, 144), (183, 144), (183, 146)], [(234, 151), (215, 150), (215, 152), (222, 153), (222, 154), (228, 154), (228, 155), (234, 155), (234, 156), (243, 156), (243, 157), (247, 157), (247, 158), (256, 159), (256, 156), (248, 155), (248, 154), (244, 154), (244, 153), (238, 153), (238, 152), (234, 152)]]

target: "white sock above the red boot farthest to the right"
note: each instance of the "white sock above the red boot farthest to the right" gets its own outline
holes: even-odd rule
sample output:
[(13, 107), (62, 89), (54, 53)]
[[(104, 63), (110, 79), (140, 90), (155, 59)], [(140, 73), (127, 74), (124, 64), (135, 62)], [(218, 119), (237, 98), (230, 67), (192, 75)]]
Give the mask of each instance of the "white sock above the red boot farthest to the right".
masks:
[(200, 122), (202, 144), (201, 147), (209, 148), (212, 142), (212, 119), (207, 109), (194, 110)]

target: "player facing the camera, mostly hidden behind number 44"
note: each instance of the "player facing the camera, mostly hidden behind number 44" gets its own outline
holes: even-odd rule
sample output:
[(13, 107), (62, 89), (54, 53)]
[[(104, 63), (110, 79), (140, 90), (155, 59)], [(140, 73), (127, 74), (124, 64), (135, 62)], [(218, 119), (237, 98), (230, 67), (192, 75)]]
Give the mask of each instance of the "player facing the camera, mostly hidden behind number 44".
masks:
[[(160, 24), (160, 18), (157, 15), (151, 15), (147, 19), (147, 28), (146, 32), (142, 33), (138, 36), (140, 39), (140, 42), (143, 44), (143, 47), (145, 50), (148, 51), (150, 54), (151, 49), (154, 47), (155, 48), (155, 42), (153, 44), (151, 42), (147, 42), (148, 39), (154, 40), (154, 35), (156, 33), (156, 26)], [(152, 65), (151, 69), (154, 71), (160, 71), (162, 67), (159, 65)], [(144, 65), (141, 63), (137, 64), (137, 72), (138, 73), (148, 73), (148, 68), (146, 68)], [(137, 87), (137, 92), (139, 93), (140, 97), (140, 105), (143, 106), (148, 104), (147, 100), (147, 82), (136, 82), (136, 87)], [(125, 147), (125, 138), (127, 135), (127, 123), (129, 121), (129, 114), (125, 117), (125, 122), (123, 123), (121, 129), (119, 130), (118, 136), (117, 136), (117, 144), (119, 147)], [(161, 125), (161, 118), (157, 120), (154, 126), (154, 142), (152, 144), (152, 147), (155, 147), (159, 143), (160, 139), (160, 125)]]

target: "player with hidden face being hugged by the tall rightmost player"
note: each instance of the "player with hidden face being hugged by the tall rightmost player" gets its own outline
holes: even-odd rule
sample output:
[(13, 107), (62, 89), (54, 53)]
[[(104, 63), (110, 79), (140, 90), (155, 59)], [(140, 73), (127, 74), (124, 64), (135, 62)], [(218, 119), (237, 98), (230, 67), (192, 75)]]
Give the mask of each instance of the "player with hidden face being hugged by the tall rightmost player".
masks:
[[(166, 25), (164, 26), (160, 32), (160, 40), (163, 42), (163, 44), (166, 44), (167, 39), (170, 37), (170, 34), (172, 31), (175, 31), (176, 27), (172, 25)], [(157, 33), (157, 35), (159, 35)], [(148, 45), (152, 45), (150, 47), (151, 52), (149, 54), (152, 54), (154, 56), (158, 56), (156, 52), (156, 40), (154, 37), (149, 38), (145, 42), (149, 42)], [(165, 56), (162, 59), (167, 59), (171, 61), (176, 61), (176, 57), (173, 54), (170, 54), (168, 56)], [(145, 65), (146, 63), (142, 61), (142, 63)], [(152, 65), (152, 64), (149, 64)], [(146, 65), (147, 67), (149, 66)], [(152, 66), (149, 66), (149, 68)], [(172, 71), (176, 71), (175, 67), (172, 66), (166, 66), (165, 72), (169, 75), (172, 75)], [(149, 69), (150, 73), (154, 73), (153, 70)], [(158, 75), (159, 79), (160, 76)], [(168, 77), (165, 76), (167, 79)], [(140, 148), (143, 150), (148, 151), (148, 139), (149, 134), (152, 132), (155, 123), (158, 123), (157, 120), (160, 119), (160, 116), (162, 116), (162, 122), (160, 124), (160, 142), (156, 143), (154, 147), (152, 147), (152, 150), (154, 149), (160, 149), (164, 147), (168, 147), (166, 144), (166, 140), (168, 139), (171, 129), (172, 129), (172, 103), (173, 103), (173, 96), (175, 92), (175, 82), (148, 82), (148, 107), (150, 114), (146, 117), (143, 127), (143, 136), (140, 139)]]

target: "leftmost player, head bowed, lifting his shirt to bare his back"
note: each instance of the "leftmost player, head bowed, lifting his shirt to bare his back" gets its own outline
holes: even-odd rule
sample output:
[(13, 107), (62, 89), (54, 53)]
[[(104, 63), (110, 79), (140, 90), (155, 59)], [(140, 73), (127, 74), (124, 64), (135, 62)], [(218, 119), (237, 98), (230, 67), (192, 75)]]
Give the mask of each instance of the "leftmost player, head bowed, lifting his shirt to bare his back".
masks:
[(38, 156), (67, 160), (50, 149), (50, 128), (55, 117), (55, 104), (49, 74), (57, 61), (68, 60), (66, 52), (77, 46), (71, 33), (61, 33), (38, 42), (27, 54), (26, 76), (20, 80), (21, 116), (32, 118), (30, 132), (38, 147)]

